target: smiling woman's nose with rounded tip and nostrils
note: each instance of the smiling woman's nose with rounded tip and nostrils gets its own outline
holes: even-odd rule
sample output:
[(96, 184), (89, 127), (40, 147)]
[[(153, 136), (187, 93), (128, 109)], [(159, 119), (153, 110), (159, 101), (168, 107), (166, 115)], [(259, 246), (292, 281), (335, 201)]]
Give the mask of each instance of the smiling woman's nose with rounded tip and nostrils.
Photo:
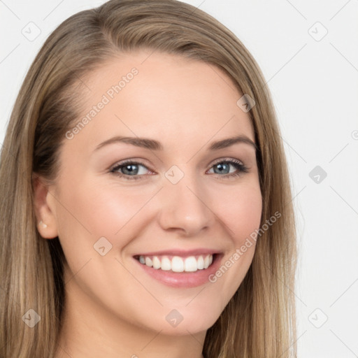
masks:
[(196, 236), (213, 225), (215, 215), (208, 206), (205, 188), (197, 180), (173, 184), (166, 182), (161, 191), (158, 222), (166, 231), (178, 231), (182, 236)]

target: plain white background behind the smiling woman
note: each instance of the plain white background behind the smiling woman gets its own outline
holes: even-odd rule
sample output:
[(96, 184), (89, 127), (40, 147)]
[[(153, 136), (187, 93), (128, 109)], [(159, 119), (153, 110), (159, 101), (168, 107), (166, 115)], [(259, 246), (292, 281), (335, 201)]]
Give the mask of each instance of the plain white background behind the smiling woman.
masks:
[[(299, 357), (358, 357), (358, 1), (185, 2), (241, 39), (273, 95), (298, 224)], [(73, 13), (101, 3), (0, 0), (0, 143), (45, 38)], [(22, 34), (29, 22), (41, 30), (34, 41)], [(322, 39), (317, 22), (328, 31)], [(315, 166), (327, 173), (319, 183), (309, 176)]]

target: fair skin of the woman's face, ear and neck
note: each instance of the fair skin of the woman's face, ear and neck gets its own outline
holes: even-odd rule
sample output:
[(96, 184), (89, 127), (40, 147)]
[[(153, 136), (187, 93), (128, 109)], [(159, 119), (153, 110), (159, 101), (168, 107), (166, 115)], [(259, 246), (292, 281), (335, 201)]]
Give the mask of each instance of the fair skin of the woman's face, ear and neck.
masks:
[[(255, 245), (216, 282), (178, 288), (151, 278), (133, 259), (138, 252), (215, 248), (224, 263), (259, 228), (262, 213), (255, 148), (208, 150), (236, 135), (255, 141), (234, 83), (204, 62), (150, 53), (120, 55), (90, 73), (79, 120), (138, 69), (85, 128), (64, 138), (55, 184), (36, 180), (36, 217), (47, 225), (38, 231), (59, 236), (67, 261), (57, 357), (199, 358), (206, 331), (252, 262)], [(152, 138), (164, 149), (113, 143), (95, 150), (113, 136)], [(141, 159), (142, 179), (109, 172), (124, 159)], [(236, 159), (248, 172), (224, 178), (227, 171), (214, 172), (216, 159)], [(165, 176), (173, 165), (184, 174), (175, 185)], [(238, 169), (231, 164), (229, 171)], [(101, 256), (94, 244), (103, 236), (112, 248)], [(183, 317), (176, 327), (165, 319), (173, 309)]]

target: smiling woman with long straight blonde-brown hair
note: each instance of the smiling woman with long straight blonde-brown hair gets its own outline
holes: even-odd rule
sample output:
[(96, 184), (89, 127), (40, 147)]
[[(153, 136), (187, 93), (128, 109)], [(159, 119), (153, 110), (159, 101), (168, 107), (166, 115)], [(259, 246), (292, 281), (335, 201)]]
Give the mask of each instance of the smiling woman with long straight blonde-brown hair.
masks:
[(1, 357), (295, 357), (295, 236), (271, 97), (179, 1), (64, 21), (1, 152)]

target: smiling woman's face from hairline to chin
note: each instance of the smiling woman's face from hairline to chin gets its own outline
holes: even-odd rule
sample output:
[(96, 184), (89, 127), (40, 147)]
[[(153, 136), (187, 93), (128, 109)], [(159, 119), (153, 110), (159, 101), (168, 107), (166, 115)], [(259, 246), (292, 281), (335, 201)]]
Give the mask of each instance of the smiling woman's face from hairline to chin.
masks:
[(262, 213), (241, 94), (212, 65), (145, 51), (83, 82), (45, 219), (69, 301), (162, 334), (206, 331), (248, 271)]

